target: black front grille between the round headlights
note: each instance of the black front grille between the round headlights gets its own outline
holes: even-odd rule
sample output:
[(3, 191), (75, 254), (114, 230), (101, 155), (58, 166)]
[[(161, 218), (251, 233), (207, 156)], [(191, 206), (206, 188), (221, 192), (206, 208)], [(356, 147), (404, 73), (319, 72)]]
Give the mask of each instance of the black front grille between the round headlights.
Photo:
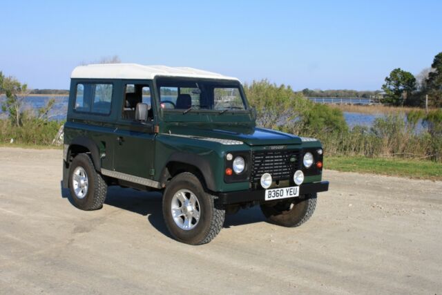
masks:
[[(280, 150), (280, 151), (252, 151), (252, 169), (250, 181), (259, 182), (262, 174), (270, 173), (273, 181), (288, 180), (293, 173), (300, 169), (301, 151)], [(295, 158), (291, 162), (291, 158)]]

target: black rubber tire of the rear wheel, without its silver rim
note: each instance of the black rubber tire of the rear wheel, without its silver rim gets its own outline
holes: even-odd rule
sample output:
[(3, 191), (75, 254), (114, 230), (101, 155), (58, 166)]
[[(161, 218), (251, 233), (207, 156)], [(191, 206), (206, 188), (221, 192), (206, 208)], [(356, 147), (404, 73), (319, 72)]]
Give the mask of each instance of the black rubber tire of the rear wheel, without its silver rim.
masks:
[[(88, 176), (88, 192), (82, 199), (77, 198), (73, 189), (73, 173), (78, 166), (81, 166)], [(86, 211), (101, 209), (106, 199), (107, 189), (106, 182), (103, 180), (102, 175), (95, 171), (90, 157), (86, 153), (80, 153), (75, 156), (74, 160), (70, 163), (69, 169), (69, 190), (75, 207)]]

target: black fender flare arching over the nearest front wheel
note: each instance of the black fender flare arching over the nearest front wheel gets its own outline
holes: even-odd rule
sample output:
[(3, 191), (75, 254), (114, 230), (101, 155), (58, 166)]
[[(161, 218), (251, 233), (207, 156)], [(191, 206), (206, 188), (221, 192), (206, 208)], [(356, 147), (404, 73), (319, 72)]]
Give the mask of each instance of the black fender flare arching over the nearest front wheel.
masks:
[(215, 177), (213, 175), (209, 161), (200, 155), (195, 155), (192, 153), (173, 153), (169, 157), (160, 176), (160, 184), (162, 184), (163, 186), (170, 175), (167, 169), (167, 165), (170, 162), (178, 162), (195, 166), (198, 170), (200, 170), (202, 178), (204, 178), (204, 182), (206, 182), (207, 189), (211, 191), (216, 191)]

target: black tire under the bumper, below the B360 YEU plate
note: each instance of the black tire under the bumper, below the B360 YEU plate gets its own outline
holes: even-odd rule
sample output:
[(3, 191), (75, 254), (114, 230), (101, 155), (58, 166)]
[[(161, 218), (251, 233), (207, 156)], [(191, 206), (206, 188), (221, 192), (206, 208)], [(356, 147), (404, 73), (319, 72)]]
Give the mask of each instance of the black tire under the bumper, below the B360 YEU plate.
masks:
[(267, 221), (283, 227), (299, 227), (309, 220), (316, 208), (316, 193), (300, 196), (292, 200), (293, 207), (287, 206), (287, 201), (273, 204), (261, 204), (261, 211)]

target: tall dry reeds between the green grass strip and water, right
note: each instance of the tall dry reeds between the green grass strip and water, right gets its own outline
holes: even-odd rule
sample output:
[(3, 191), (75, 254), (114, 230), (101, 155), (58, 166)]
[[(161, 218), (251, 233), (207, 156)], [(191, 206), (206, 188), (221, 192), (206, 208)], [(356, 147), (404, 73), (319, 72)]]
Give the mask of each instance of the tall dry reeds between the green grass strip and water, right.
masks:
[[(438, 111), (434, 111), (436, 112)], [(424, 120), (424, 124), (429, 123)], [(436, 122), (435, 125), (437, 126), (418, 133), (414, 121), (405, 120), (405, 115), (396, 113), (376, 118), (370, 128), (355, 126), (340, 132), (324, 131), (308, 135), (318, 138), (329, 155), (425, 158), (441, 161), (442, 132), (439, 129), (442, 121)]]

